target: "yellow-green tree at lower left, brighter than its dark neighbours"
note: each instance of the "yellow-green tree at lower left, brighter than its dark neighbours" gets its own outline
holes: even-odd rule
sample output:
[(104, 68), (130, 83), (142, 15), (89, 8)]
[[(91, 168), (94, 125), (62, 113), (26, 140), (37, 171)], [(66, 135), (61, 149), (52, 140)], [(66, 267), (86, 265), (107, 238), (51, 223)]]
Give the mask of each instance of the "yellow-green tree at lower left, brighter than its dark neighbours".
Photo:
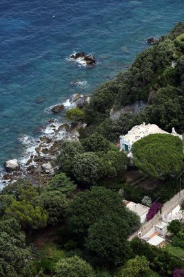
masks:
[(48, 222), (47, 211), (40, 206), (34, 207), (25, 200), (12, 202), (11, 206), (6, 209), (6, 215), (14, 217), (24, 229), (43, 228)]

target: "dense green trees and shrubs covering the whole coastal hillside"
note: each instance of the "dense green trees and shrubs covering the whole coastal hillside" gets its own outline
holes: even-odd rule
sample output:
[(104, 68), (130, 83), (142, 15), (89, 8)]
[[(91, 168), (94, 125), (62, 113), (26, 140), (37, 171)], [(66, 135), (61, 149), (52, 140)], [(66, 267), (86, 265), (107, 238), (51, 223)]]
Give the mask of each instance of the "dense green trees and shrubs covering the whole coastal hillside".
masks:
[[(61, 143), (46, 186), (19, 179), (3, 188), (2, 277), (166, 277), (184, 267), (169, 247), (127, 240), (139, 229), (140, 218), (123, 203), (123, 198), (141, 203), (148, 197), (164, 203), (178, 193), (182, 141), (156, 134), (134, 143), (134, 169), (163, 179), (149, 191), (126, 184), (125, 170), (131, 172), (132, 165), (113, 144), (143, 121), (183, 133), (183, 34), (184, 23), (177, 24), (170, 35), (140, 53), (130, 69), (96, 89), (83, 109), (67, 111), (68, 120), (81, 120), (87, 127), (79, 130), (80, 141)], [(145, 109), (124, 109), (140, 101)], [(119, 111), (115, 119), (111, 109), (111, 114)], [(181, 222), (172, 222), (169, 230), (174, 234), (171, 247), (183, 249)]]

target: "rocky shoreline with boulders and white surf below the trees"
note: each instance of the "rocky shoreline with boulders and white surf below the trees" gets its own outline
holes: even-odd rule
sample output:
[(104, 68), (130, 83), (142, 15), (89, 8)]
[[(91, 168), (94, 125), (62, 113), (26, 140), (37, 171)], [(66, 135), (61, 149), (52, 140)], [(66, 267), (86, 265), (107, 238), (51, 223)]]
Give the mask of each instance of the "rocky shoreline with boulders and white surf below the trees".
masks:
[[(89, 95), (77, 93), (71, 100), (76, 107), (82, 109), (90, 102)], [(54, 109), (54, 110), (53, 110)], [(52, 107), (53, 113), (60, 113), (65, 109), (63, 104)], [(58, 123), (54, 119), (48, 120), (50, 134), (45, 134), (37, 139), (37, 145), (30, 153), (25, 163), (20, 163), (18, 159), (10, 159), (4, 163), (6, 173), (3, 175), (3, 184), (10, 184), (20, 177), (30, 179), (32, 184), (44, 186), (54, 174), (54, 159), (61, 150), (63, 141), (79, 141), (79, 128), (85, 127), (84, 123)]]

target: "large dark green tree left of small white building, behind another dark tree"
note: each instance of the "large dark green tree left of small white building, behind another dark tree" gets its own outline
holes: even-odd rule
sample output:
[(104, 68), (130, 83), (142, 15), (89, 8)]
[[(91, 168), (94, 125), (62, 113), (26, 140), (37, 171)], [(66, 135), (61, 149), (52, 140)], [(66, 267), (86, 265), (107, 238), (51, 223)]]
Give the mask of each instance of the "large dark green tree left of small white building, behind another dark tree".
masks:
[(78, 193), (70, 203), (68, 207), (70, 229), (75, 233), (87, 235), (89, 226), (109, 213), (125, 220), (132, 233), (139, 229), (139, 216), (125, 207), (122, 196), (114, 190), (98, 186)]

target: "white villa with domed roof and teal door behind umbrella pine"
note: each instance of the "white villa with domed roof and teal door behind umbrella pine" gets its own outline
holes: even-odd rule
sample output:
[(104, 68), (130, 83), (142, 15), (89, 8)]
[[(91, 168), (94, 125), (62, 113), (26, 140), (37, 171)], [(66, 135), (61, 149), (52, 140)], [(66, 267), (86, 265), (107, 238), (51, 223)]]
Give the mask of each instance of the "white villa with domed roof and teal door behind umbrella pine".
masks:
[[(145, 122), (141, 125), (134, 126), (130, 131), (125, 134), (125, 136), (120, 136), (120, 150), (124, 150), (127, 152), (127, 157), (132, 158), (132, 144), (136, 141), (139, 141), (139, 139), (143, 139), (145, 136), (148, 136), (149, 134), (170, 134), (163, 129), (159, 128), (155, 124), (147, 124), (145, 125)], [(172, 128), (173, 136), (178, 136), (180, 139), (182, 139), (182, 136), (177, 134), (175, 129)]]

